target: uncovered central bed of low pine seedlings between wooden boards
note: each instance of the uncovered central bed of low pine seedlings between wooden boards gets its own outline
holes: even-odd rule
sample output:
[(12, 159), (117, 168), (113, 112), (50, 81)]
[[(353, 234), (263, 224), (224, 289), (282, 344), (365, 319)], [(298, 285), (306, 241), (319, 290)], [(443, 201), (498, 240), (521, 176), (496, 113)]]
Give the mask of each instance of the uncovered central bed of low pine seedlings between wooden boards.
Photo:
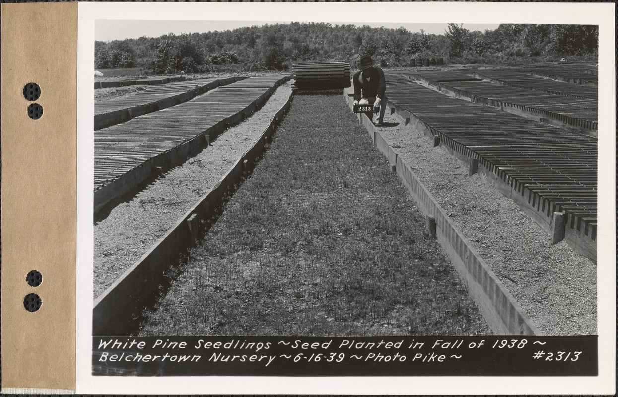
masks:
[(297, 96), (147, 335), (487, 335), (340, 96)]

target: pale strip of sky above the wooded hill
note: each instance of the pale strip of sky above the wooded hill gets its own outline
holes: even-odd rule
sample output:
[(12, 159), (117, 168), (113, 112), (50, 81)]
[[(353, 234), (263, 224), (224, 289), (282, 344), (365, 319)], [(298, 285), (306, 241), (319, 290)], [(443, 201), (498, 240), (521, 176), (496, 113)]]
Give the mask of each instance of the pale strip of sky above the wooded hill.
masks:
[[(205, 33), (207, 31), (232, 30), (235, 28), (265, 25), (273, 23), (290, 23), (281, 21), (208, 21), (208, 20), (96, 20), (95, 40), (110, 41), (124, 40), (127, 38), (139, 38), (142, 36), (159, 37), (167, 33)], [(342, 25), (344, 22), (329, 22), (331, 25)], [(358, 22), (357, 26), (370, 25), (371, 27), (399, 28), (404, 27), (409, 31), (415, 32), (421, 29), (425, 33), (441, 35), (447, 28), (447, 23), (371, 23)], [(497, 23), (464, 23), (464, 28), (468, 30), (486, 29), (493, 30), (498, 27)]]

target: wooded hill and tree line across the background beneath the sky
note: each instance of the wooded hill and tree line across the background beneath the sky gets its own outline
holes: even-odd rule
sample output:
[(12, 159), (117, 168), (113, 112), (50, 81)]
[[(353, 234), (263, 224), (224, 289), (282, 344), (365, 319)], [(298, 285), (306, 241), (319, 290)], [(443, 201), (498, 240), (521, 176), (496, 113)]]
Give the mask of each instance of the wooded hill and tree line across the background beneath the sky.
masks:
[(598, 35), (596, 25), (501, 24), (481, 32), (449, 23), (444, 34), (428, 35), (405, 28), (277, 23), (95, 41), (95, 68), (139, 67), (154, 74), (288, 70), (294, 62), (328, 59), (349, 59), (356, 68), (364, 54), (383, 67), (439, 57), (451, 64), (596, 60)]

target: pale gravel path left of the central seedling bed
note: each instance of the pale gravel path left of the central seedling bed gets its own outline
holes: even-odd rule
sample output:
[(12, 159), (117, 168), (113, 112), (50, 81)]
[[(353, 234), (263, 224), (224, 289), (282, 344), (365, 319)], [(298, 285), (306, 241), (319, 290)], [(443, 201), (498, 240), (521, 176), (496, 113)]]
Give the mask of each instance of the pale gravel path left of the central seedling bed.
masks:
[(164, 173), (95, 224), (95, 298), (223, 177), (264, 132), (291, 92), (291, 83), (277, 88), (260, 111), (229, 128), (212, 146)]

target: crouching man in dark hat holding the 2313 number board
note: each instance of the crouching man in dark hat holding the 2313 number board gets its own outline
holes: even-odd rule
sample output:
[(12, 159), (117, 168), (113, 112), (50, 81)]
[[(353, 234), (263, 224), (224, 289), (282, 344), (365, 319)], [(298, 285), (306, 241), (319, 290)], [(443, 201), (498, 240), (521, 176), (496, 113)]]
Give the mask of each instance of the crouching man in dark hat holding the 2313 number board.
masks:
[[(373, 112), (378, 113), (378, 120), (374, 122), (376, 126), (381, 126), (384, 121), (384, 111), (386, 111), (386, 79), (384, 72), (379, 67), (373, 67), (373, 60), (370, 55), (360, 58), (360, 71), (354, 75), (354, 104), (373, 104)], [(370, 120), (373, 120), (371, 112), (366, 113)]]

